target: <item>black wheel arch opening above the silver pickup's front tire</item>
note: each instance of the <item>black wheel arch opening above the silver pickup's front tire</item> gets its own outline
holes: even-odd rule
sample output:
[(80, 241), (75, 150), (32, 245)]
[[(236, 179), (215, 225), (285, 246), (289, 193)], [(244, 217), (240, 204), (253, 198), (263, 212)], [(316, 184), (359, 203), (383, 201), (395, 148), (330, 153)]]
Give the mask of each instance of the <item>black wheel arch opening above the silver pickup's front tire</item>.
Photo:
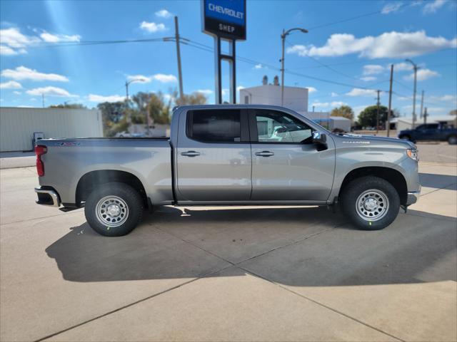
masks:
[(400, 203), (406, 204), (408, 198), (408, 186), (406, 184), (405, 177), (399, 172), (391, 167), (379, 167), (379, 166), (367, 166), (367, 167), (358, 167), (351, 172), (348, 172), (346, 177), (344, 177), (343, 182), (338, 193), (338, 198), (341, 198), (345, 187), (353, 180), (356, 180), (360, 177), (373, 176), (379, 177), (387, 182), (391, 183), (395, 190), (398, 192), (400, 197)]

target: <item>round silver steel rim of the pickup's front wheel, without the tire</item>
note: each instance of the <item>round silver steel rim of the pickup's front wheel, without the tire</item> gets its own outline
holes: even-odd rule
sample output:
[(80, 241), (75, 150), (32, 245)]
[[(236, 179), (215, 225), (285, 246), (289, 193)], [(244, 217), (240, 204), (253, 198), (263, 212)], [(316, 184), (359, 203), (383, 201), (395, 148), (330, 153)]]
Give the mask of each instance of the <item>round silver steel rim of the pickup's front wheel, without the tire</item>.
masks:
[(358, 216), (366, 221), (378, 221), (388, 212), (388, 198), (384, 192), (377, 189), (366, 190), (356, 201)]

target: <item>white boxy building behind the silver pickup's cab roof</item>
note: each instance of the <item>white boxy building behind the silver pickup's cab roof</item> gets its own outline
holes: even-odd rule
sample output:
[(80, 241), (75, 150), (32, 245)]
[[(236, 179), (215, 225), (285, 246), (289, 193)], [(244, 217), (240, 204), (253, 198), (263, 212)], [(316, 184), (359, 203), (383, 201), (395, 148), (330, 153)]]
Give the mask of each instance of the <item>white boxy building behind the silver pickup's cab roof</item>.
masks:
[[(240, 90), (240, 103), (255, 105), (281, 105), (281, 86), (267, 84), (265, 86), (243, 88)], [(284, 87), (283, 107), (298, 112), (308, 111), (308, 89)]]

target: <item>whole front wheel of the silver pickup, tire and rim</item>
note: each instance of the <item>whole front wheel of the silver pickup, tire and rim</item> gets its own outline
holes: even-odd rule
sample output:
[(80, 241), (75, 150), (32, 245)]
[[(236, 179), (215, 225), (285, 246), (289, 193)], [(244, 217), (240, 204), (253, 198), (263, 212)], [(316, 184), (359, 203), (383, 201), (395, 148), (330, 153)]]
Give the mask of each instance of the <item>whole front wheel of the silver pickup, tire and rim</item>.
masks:
[(343, 210), (353, 224), (364, 230), (386, 228), (396, 219), (400, 197), (391, 183), (367, 176), (350, 182), (342, 198)]

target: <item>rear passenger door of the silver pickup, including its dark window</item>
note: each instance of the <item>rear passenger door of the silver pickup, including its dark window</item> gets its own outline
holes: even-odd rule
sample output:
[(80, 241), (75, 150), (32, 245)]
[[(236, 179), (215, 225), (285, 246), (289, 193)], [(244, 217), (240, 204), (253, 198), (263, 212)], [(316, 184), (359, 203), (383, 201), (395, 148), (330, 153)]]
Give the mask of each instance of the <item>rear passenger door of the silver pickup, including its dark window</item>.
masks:
[(189, 110), (179, 118), (176, 149), (181, 201), (248, 201), (251, 145), (240, 109)]

